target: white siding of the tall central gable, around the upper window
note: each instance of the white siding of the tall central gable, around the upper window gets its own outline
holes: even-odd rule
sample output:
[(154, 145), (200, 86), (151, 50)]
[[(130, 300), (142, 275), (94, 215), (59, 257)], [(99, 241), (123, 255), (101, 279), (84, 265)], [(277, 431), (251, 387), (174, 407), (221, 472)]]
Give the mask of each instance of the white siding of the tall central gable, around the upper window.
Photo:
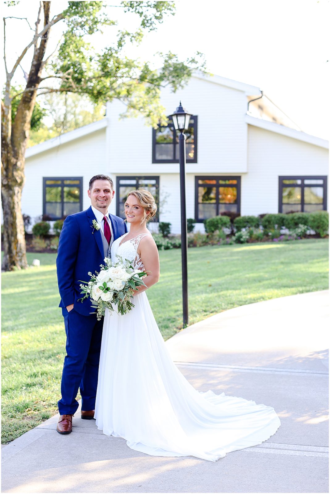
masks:
[[(198, 163), (187, 165), (191, 173), (243, 173), (247, 171), (247, 107), (243, 91), (192, 78), (173, 94), (162, 91), (166, 114), (183, 106), (198, 116)], [(152, 128), (142, 118), (119, 120), (124, 105), (107, 106), (108, 149), (111, 173), (160, 174), (178, 172), (177, 164), (152, 163)]]

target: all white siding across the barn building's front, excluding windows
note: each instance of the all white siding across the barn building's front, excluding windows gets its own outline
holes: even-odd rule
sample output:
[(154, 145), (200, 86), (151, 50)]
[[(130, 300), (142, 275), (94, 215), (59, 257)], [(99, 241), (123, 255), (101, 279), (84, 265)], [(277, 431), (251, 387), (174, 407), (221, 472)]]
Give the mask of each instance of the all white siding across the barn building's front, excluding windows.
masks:
[[(198, 163), (186, 165), (188, 218), (195, 216), (196, 175), (241, 176), (242, 215), (278, 212), (279, 175), (328, 175), (327, 143), (247, 116), (247, 96), (252, 96), (247, 91), (257, 94), (258, 90), (217, 77), (193, 77), (175, 94), (168, 88), (162, 90), (167, 115), (180, 99), (187, 110), (198, 115)], [(51, 141), (48, 147), (36, 147), (34, 151), (41, 152), (26, 159), (23, 213), (41, 215), (45, 176), (82, 176), (85, 209), (90, 204), (87, 188), (92, 175), (106, 173), (115, 185), (118, 175), (156, 175), (160, 177), (163, 203), (160, 220), (172, 224), (172, 233), (180, 232), (179, 165), (153, 164), (151, 127), (142, 118), (119, 120), (124, 110), (119, 101), (108, 103), (104, 121), (68, 133), (63, 137), (67, 142), (58, 146), (57, 141)], [(107, 127), (101, 129), (102, 125)], [(72, 137), (74, 140), (69, 141)], [(116, 214), (116, 200), (109, 211)], [(203, 231), (203, 223), (196, 224), (195, 230)]]

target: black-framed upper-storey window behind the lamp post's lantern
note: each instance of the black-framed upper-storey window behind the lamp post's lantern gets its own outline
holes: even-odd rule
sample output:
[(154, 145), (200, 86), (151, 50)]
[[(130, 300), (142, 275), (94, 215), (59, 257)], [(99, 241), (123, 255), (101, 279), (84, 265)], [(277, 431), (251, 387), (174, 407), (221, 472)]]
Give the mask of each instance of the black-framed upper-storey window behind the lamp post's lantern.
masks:
[[(189, 121), (186, 136), (186, 162), (197, 163), (197, 115)], [(175, 131), (172, 119), (167, 126), (159, 126), (152, 133), (152, 162), (179, 163), (179, 134)]]

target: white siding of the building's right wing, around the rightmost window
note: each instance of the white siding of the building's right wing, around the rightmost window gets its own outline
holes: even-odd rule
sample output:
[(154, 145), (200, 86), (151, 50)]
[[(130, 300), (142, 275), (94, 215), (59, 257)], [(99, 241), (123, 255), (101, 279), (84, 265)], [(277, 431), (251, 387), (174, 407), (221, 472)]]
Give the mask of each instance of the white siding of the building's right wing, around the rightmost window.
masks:
[(327, 149), (248, 125), (248, 173), (242, 175), (242, 216), (277, 213), (279, 176), (328, 175), (328, 154)]

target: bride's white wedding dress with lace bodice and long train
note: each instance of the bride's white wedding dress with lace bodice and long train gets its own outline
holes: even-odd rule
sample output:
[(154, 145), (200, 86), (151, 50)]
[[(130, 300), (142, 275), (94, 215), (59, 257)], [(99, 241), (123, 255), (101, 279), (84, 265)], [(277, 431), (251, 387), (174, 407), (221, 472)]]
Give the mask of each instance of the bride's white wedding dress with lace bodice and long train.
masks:
[[(124, 237), (117, 239), (111, 258), (120, 255), (143, 270), (137, 256), (142, 237), (121, 246)], [(124, 316), (106, 311), (95, 405), (98, 429), (142, 453), (210, 461), (275, 434), (281, 422), (273, 408), (195, 390), (174, 365), (146, 292), (133, 301), (135, 307)]]

